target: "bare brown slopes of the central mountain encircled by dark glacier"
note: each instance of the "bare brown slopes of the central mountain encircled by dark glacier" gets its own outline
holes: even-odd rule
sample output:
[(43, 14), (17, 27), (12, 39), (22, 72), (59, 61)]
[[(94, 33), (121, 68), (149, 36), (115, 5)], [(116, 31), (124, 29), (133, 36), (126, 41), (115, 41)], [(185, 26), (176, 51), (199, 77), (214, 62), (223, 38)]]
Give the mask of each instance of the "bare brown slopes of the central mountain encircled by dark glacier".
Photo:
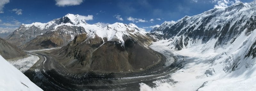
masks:
[(161, 55), (143, 44), (152, 42), (146, 36), (123, 36), (119, 40), (89, 38), (78, 35), (67, 46), (52, 52), (66, 68), (72, 71), (128, 72), (140, 71), (158, 63)]

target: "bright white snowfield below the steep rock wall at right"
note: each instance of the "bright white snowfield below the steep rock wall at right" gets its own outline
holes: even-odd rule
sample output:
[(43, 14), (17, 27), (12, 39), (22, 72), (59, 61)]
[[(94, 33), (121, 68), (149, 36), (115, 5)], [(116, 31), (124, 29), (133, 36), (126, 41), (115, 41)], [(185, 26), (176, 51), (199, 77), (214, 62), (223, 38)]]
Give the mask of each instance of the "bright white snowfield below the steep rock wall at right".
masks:
[[(255, 35), (254, 32), (253, 35)], [(254, 38), (253, 41), (256, 41), (256, 39)], [(230, 47), (230, 49), (219, 49), (218, 51), (211, 49), (211, 47), (205, 49), (204, 45), (176, 51), (168, 47), (168, 44), (168, 40), (162, 40), (154, 42), (151, 47), (153, 47), (152, 49), (159, 47), (172, 51), (176, 56), (184, 56), (184, 68), (170, 74), (172, 76), (170, 79), (177, 81), (177, 83), (163, 79), (156, 84), (156, 88), (141, 83), (141, 91), (195, 91), (198, 88), (199, 91), (256, 90), (256, 85), (253, 84), (256, 82), (256, 60), (252, 59), (252, 56), (244, 58), (244, 54), (247, 52), (246, 49), (250, 47), (250, 42), (241, 49), (238, 49), (240, 45), (237, 45), (236, 48)], [(235, 67), (234, 64), (239, 65)], [(233, 67), (235, 67), (234, 70)], [(212, 75), (206, 73), (208, 69), (214, 69), (214, 72), (213, 70), (210, 71)]]

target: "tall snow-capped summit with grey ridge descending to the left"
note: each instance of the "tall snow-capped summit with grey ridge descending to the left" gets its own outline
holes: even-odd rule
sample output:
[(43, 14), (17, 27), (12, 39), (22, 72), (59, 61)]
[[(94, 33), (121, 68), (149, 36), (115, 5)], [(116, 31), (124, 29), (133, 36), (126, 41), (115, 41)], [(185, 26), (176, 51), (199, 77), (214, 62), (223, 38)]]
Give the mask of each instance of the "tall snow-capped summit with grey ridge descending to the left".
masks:
[(33, 40), (36, 36), (43, 35), (47, 31), (56, 30), (57, 27), (62, 25), (86, 25), (87, 17), (80, 15), (67, 14), (61, 18), (54, 19), (48, 23), (32, 23), (21, 24), (20, 28), (16, 29), (5, 39), (20, 47), (25, 43)]

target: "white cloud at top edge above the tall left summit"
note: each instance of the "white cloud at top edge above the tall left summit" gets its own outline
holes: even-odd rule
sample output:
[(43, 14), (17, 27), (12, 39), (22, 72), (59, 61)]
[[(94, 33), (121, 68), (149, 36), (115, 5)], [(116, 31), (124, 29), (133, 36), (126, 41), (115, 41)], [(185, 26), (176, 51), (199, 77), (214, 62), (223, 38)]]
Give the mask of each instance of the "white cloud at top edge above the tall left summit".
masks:
[(57, 6), (59, 7), (65, 7), (65, 6), (74, 6), (74, 5), (80, 5), (83, 3), (83, 0), (55, 0)]

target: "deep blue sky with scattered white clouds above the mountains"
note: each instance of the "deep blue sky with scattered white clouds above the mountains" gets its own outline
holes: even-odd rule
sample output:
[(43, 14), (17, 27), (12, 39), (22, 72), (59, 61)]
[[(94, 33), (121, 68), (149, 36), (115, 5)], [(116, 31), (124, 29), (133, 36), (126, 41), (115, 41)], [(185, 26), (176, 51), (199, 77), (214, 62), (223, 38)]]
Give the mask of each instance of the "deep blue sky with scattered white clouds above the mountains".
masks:
[[(253, 0), (241, 0), (249, 3)], [(92, 15), (87, 23), (134, 23), (151, 30), (164, 21), (177, 21), (238, 0), (0, 0), (0, 31), (20, 24), (47, 23), (68, 13)], [(226, 6), (225, 6), (226, 5)], [(151, 28), (150, 28), (151, 26)]]

